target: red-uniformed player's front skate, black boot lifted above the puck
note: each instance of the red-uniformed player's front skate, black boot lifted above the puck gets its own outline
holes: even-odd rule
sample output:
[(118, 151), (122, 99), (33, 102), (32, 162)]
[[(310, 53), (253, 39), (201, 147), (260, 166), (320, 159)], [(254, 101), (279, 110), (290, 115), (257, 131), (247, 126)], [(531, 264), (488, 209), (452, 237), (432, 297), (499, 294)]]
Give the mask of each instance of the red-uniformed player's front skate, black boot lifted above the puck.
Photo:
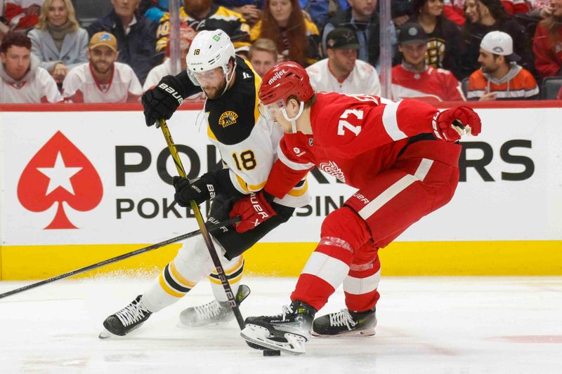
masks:
[(267, 349), (291, 354), (306, 352), (305, 343), (311, 338), (312, 321), (316, 309), (295, 300), (284, 306), (277, 316), (248, 317), (242, 338)]

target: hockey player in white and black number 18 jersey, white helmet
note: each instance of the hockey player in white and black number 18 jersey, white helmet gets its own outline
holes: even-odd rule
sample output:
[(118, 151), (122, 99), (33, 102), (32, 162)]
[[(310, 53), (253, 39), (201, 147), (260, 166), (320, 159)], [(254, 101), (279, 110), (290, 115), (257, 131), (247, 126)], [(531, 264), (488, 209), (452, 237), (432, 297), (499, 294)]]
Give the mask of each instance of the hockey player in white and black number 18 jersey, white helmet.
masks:
[[(259, 114), (259, 75), (248, 62), (235, 55), (233, 44), (222, 30), (202, 31), (192, 41), (187, 57), (188, 71), (164, 76), (142, 98), (147, 126), (169, 119), (183, 99), (203, 91), (207, 96), (209, 140), (221, 153), (225, 168), (211, 171), (191, 182), (174, 177), (176, 202), (189, 206), (212, 199), (209, 222), (228, 220), (230, 208), (240, 197), (266, 185), (277, 159), (282, 130)], [(263, 225), (243, 234), (234, 227), (211, 233), (230, 286), (243, 300), (249, 288), (240, 286), (244, 269), (242, 253), (291, 217), (295, 208), (308, 203), (306, 180), (301, 180), (283, 199), (271, 198), (275, 215)], [(123, 309), (108, 316), (103, 325), (109, 333), (126, 335), (138, 328), (150, 314), (180, 300), (205, 277), (211, 281), (216, 300), (183, 310), (186, 326), (204, 326), (234, 318), (228, 298), (218, 279), (209, 250), (200, 237), (195, 245), (184, 245), (155, 282)], [(236, 291), (235, 291), (236, 292)], [(109, 336), (103, 332), (100, 338)]]

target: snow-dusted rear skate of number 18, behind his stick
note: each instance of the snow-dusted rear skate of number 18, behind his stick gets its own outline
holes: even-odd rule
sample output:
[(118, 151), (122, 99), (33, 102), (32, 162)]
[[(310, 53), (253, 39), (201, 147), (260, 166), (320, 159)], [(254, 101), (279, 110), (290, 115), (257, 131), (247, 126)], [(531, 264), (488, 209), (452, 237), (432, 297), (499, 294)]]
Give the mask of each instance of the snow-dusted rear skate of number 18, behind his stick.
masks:
[[(236, 293), (236, 302), (240, 302), (250, 294), (250, 288), (241, 284)], [(180, 313), (180, 322), (187, 327), (201, 327), (211, 324), (226, 323), (234, 319), (233, 309), (228, 301), (213, 300), (204, 305), (189, 307)]]

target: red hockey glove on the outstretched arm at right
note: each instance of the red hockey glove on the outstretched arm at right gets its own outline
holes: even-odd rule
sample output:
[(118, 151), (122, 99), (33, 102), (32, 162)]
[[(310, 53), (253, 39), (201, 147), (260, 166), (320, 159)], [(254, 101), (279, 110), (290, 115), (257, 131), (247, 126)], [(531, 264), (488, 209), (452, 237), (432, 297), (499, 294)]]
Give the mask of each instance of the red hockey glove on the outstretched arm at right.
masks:
[(455, 107), (433, 116), (433, 133), (440, 140), (456, 142), (461, 135), (478, 135), (482, 131), (480, 117), (469, 107)]

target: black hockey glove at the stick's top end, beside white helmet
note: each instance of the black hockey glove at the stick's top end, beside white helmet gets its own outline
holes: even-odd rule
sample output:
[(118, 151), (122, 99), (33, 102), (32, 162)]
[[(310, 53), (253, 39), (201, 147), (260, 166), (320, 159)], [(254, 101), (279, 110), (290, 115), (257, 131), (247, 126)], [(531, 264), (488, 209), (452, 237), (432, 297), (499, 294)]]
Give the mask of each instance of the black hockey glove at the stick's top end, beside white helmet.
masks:
[(164, 76), (155, 88), (146, 91), (141, 98), (146, 126), (152, 126), (159, 119), (170, 119), (183, 102), (182, 91), (178, 77), (173, 75)]

